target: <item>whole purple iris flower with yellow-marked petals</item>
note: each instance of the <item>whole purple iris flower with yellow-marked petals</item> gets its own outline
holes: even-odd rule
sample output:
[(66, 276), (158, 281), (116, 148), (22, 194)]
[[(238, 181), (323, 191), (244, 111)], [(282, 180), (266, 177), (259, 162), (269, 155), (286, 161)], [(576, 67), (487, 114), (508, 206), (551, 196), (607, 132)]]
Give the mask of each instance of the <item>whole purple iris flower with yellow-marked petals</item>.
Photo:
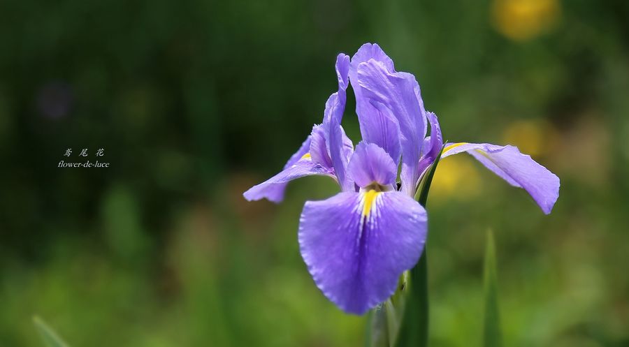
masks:
[[(516, 147), (444, 145), (437, 116), (424, 109), (417, 80), (397, 72), (378, 45), (363, 45), (351, 61), (339, 54), (336, 74), (338, 91), (328, 98), (321, 124), (284, 170), (244, 195), (280, 202), (293, 179), (323, 175), (338, 182), (337, 195), (305, 202), (298, 240), (315, 283), (343, 311), (362, 314), (384, 302), (400, 275), (419, 260), (427, 216), (414, 196), (441, 149), (441, 158), (471, 154), (550, 213), (559, 195), (556, 175)], [(362, 135), (355, 148), (340, 125), (350, 81)]]

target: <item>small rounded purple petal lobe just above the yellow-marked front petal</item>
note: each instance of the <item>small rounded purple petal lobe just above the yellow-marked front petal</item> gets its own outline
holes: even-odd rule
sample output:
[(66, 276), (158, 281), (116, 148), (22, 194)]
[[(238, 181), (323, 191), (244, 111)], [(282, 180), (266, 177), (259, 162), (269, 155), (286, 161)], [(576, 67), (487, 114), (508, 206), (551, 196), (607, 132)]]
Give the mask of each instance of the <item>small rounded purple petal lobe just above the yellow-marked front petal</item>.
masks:
[(384, 149), (374, 143), (360, 142), (349, 160), (347, 174), (361, 188), (373, 183), (389, 186), (396, 182), (398, 165)]

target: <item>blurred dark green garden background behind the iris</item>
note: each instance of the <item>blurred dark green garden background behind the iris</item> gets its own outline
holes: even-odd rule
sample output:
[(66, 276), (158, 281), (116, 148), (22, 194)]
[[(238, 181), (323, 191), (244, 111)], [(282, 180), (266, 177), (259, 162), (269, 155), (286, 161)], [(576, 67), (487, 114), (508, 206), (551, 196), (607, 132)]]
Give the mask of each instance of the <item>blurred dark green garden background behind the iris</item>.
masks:
[[(621, 0), (1, 1), (0, 345), (41, 346), (38, 314), (71, 346), (362, 346), (365, 318), (319, 293), (296, 242), (335, 184), (242, 193), (321, 121), (336, 54), (377, 42), (447, 140), (512, 143), (561, 177), (544, 216), (442, 161), (431, 346), (481, 343), (488, 229), (505, 346), (629, 346), (628, 18)], [(85, 159), (110, 167), (57, 167)]]

